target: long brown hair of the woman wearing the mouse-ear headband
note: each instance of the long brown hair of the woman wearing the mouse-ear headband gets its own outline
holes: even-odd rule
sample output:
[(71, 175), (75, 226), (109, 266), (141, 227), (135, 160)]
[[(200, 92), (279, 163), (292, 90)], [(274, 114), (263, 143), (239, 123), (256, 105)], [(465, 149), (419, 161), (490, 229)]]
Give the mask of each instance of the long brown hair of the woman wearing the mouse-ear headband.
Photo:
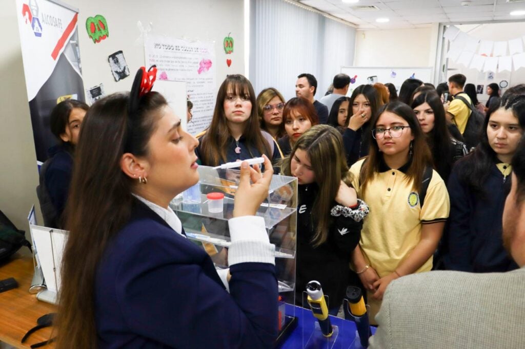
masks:
[(108, 242), (129, 220), (138, 182), (122, 172), (125, 152), (148, 155), (166, 100), (158, 92), (141, 97), (133, 119), (128, 94), (93, 104), (80, 129), (67, 202), (69, 237), (62, 259), (57, 348), (95, 348), (95, 276)]

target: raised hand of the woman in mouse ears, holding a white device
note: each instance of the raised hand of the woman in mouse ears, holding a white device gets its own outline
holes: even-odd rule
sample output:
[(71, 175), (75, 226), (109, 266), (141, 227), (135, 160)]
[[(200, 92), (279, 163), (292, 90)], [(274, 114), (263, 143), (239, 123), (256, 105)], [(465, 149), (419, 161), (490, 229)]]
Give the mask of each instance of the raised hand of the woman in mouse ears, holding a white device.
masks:
[[(264, 157), (264, 173), (261, 173), (259, 165), (251, 168), (248, 162), (243, 161), (240, 166), (239, 188), (235, 192), (233, 216), (253, 216), (259, 209), (260, 204), (268, 197), (271, 176), (274, 169), (266, 155)], [(250, 183), (251, 180), (251, 183)]]

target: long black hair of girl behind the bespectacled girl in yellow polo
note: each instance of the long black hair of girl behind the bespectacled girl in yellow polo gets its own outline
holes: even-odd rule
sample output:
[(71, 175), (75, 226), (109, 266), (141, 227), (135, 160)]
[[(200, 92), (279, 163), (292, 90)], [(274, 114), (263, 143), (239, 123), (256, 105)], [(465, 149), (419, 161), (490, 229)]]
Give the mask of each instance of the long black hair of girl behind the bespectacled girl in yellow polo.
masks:
[(451, 143), (450, 133), (447, 128), (445, 108), (443, 107), (441, 98), (434, 91), (418, 95), (414, 102), (412, 102), (412, 109), (424, 103), (428, 103), (434, 111), (434, 127), (426, 134), (427, 144), (432, 153), (434, 168), (446, 183), (453, 165), (450, 161), (454, 147)]

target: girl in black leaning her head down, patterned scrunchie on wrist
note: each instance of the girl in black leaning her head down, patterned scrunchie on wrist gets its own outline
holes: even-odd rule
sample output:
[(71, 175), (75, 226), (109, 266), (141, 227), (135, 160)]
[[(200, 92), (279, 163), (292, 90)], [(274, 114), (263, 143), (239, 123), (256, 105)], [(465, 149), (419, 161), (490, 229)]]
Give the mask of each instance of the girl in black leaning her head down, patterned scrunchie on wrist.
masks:
[(298, 180), (296, 302), (304, 304), (307, 282), (317, 280), (337, 315), (368, 212), (351, 186), (341, 134), (328, 125), (308, 129), (297, 140), (281, 171)]

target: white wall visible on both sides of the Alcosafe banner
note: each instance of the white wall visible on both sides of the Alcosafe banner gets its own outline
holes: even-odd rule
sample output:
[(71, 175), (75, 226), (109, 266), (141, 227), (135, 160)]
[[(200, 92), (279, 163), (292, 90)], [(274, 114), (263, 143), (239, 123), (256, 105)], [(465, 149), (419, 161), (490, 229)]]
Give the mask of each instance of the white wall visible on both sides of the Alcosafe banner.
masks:
[[(214, 40), (218, 64), (216, 81), (219, 85), (226, 74), (244, 72), (243, 0), (62, 0), (79, 8), (78, 29), (82, 75), (85, 88), (104, 84), (106, 93), (131, 88), (133, 74), (144, 64), (144, 48), (137, 22), (152, 24), (152, 34), (184, 37), (195, 40)], [(14, 0), (3, 0), (0, 18), (10, 28), (2, 42), (0, 56), (0, 210), (20, 229), (29, 234), (27, 214), (32, 204), (38, 208), (35, 188), (38, 184), (33, 130), (24, 80), (22, 53), (16, 16), (19, 11)], [(86, 18), (101, 14), (108, 21), (109, 37), (93, 43), (86, 32)], [(235, 50), (228, 54), (232, 66), (226, 66), (223, 38), (231, 32)], [(139, 39), (139, 40), (138, 40)], [(123, 50), (131, 76), (115, 82), (108, 56)], [(217, 86), (218, 87), (218, 86)], [(37, 210), (39, 212), (39, 209)], [(38, 213), (40, 222), (41, 215)]]

